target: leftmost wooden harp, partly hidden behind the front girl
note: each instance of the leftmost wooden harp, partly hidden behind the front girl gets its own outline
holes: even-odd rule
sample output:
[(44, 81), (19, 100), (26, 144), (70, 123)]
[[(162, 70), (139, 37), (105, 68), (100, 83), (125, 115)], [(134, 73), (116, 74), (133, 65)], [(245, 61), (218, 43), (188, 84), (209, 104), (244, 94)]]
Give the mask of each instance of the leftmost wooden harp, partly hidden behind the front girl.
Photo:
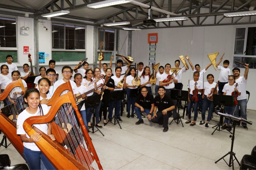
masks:
[[(5, 107), (0, 112), (0, 129), (15, 149), (23, 157), (23, 143), (17, 135), (16, 121), (18, 115), (27, 107), (22, 96), (18, 93), (25, 92), (22, 80), (18, 79), (6, 86), (0, 95), (0, 101), (4, 101)], [(17, 99), (15, 99), (15, 97)], [(22, 100), (21, 100), (22, 99)]]

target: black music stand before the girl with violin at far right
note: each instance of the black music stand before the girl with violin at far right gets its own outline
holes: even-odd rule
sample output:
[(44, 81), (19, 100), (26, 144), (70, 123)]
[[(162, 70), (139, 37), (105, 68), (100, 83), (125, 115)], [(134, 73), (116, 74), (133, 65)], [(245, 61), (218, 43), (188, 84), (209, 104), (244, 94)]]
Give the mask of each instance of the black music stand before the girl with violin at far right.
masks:
[[(221, 95), (221, 94), (213, 94), (213, 105), (219, 105), (221, 106), (221, 111), (224, 113), (224, 106), (233, 106), (234, 104), (234, 98), (232, 96), (229, 96), (229, 95)], [(217, 115), (218, 112), (215, 112)], [(212, 135), (213, 133), (218, 130), (218, 131), (221, 131), (221, 130), (225, 130), (225, 129), (220, 129), (220, 126), (223, 124), (223, 116), (220, 115), (220, 121), (219, 123), (216, 125), (216, 126), (213, 126), (212, 128), (216, 128), (213, 132), (212, 132)], [(226, 129), (229, 133), (232, 134), (232, 132), (230, 132), (228, 129)]]

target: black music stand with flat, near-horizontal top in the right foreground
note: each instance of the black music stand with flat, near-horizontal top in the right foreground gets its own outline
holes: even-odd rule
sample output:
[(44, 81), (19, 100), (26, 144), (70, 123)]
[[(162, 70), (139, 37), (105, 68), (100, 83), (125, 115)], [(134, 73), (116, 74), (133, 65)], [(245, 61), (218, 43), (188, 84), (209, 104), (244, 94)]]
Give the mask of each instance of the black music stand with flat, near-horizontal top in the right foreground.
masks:
[[(225, 96), (225, 95), (224, 95)], [(232, 97), (232, 96), (231, 96)], [(226, 160), (224, 159), (227, 155), (230, 154), (230, 157), (229, 157), (229, 163), (226, 162), (226, 164), (228, 165), (228, 167), (231, 167), (232, 166), (232, 169), (234, 170), (234, 158), (236, 159), (237, 163), (239, 166), (240, 163), (239, 161), (237, 160), (236, 158), (236, 153), (233, 152), (233, 146), (234, 146), (234, 140), (235, 140), (235, 129), (236, 129), (236, 122), (244, 122), (244, 123), (249, 123), (249, 124), (252, 124), (252, 122), (250, 121), (247, 121), (241, 117), (237, 117), (237, 116), (234, 116), (234, 115), (228, 115), (228, 114), (223, 114), (223, 113), (220, 113), (218, 112), (219, 115), (223, 116), (223, 117), (226, 117), (226, 118), (229, 118), (229, 119), (232, 119), (234, 121), (233, 123), (233, 134), (230, 135), (229, 137), (231, 138), (232, 142), (231, 142), (231, 148), (230, 148), (230, 152), (228, 152), (226, 155), (224, 155), (223, 157), (221, 157), (220, 159), (218, 159), (217, 161), (215, 161), (215, 164), (217, 162), (219, 162), (221, 159), (223, 159), (225, 162)], [(232, 165), (231, 165), (232, 164)]]

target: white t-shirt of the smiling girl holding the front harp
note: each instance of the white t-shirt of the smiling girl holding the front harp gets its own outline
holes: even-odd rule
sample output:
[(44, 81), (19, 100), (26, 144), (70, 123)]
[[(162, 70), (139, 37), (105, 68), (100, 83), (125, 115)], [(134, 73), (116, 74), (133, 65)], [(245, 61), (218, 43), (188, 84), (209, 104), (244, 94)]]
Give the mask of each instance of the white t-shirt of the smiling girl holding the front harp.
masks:
[[(41, 105), (44, 115), (46, 115), (49, 111), (49, 108), (47, 105)], [(28, 136), (28, 134), (26, 133), (26, 131), (23, 129), (23, 123), (24, 121), (32, 116), (39, 116), (40, 115), (40, 109), (39, 107), (37, 107), (37, 112), (35, 114), (30, 114), (27, 112), (27, 110), (23, 110), (23, 112), (20, 113), (20, 115), (17, 118), (17, 134), (18, 135), (24, 135), (26, 134), (26, 137), (30, 138)], [(41, 114), (42, 115), (42, 114)], [(36, 128), (38, 128), (39, 130), (41, 130), (42, 132), (44, 132), (45, 134), (47, 134), (47, 130), (48, 130), (48, 125), (47, 123), (44, 124), (34, 124), (34, 126)], [(32, 150), (32, 151), (40, 151), (40, 149), (36, 146), (35, 143), (27, 143), (27, 142), (23, 142), (23, 146)]]

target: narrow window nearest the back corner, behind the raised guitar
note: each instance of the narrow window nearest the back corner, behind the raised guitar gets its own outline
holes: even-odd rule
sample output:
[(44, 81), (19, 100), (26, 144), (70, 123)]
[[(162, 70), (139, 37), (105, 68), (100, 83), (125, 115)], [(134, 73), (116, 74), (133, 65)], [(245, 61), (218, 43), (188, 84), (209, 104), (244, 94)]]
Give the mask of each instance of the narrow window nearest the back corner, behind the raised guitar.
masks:
[(102, 53), (104, 52), (104, 61), (109, 61), (115, 50), (115, 30), (99, 28), (98, 36), (98, 55), (100, 53), (100, 43), (103, 41)]

